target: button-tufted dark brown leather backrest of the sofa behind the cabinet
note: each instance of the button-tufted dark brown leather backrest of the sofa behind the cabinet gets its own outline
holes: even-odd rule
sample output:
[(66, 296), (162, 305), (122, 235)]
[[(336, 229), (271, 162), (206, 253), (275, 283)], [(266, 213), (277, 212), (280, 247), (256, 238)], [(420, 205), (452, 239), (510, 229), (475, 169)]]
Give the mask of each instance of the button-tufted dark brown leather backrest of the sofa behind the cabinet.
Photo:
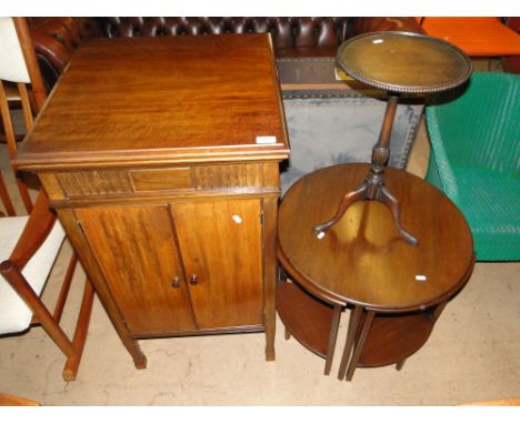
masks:
[(106, 34), (199, 36), (270, 32), (274, 48), (339, 46), (351, 32), (351, 18), (101, 18)]

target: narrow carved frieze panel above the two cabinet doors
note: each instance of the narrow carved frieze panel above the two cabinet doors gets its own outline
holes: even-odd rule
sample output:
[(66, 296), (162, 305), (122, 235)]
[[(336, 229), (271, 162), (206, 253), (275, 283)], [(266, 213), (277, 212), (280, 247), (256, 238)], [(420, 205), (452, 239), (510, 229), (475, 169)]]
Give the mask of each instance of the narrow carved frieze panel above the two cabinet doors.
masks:
[[(46, 175), (42, 181), (49, 181)], [(258, 192), (279, 189), (278, 163), (201, 164), (163, 169), (59, 172), (63, 198), (127, 196), (147, 193), (214, 191)], [(47, 185), (47, 184), (46, 184)], [(52, 195), (51, 195), (52, 196)]]

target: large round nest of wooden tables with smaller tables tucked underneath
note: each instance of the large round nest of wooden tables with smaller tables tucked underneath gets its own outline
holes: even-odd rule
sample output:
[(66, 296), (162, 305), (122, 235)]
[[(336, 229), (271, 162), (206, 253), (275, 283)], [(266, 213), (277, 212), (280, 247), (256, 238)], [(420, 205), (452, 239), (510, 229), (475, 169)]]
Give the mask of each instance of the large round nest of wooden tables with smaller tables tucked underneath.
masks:
[(470, 229), (458, 208), (433, 185), (401, 170), (386, 170), (399, 199), (408, 243), (381, 202), (356, 202), (324, 234), (330, 216), (370, 164), (324, 168), (299, 180), (279, 211), (278, 259), (294, 283), (279, 282), (277, 310), (292, 334), (327, 357), (330, 373), (342, 309), (351, 310), (338, 377), (357, 366), (397, 364), (428, 340), (447, 302), (468, 281), (474, 263)]

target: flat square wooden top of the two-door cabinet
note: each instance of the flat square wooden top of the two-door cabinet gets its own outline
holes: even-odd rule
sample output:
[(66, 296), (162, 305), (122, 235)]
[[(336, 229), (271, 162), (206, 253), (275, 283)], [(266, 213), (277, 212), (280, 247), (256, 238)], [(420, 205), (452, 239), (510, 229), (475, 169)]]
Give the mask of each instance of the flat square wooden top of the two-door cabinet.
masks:
[(21, 168), (288, 154), (267, 34), (94, 39), (49, 95)]

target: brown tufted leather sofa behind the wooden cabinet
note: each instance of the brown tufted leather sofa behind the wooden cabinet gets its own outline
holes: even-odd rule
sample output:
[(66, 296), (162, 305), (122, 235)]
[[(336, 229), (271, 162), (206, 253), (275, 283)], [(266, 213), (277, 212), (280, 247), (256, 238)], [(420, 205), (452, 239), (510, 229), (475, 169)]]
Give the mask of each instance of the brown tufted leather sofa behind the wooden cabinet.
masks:
[(49, 89), (76, 48), (93, 37), (270, 32), (277, 57), (333, 57), (341, 42), (362, 32), (423, 32), (412, 18), (32, 18), (30, 24)]

